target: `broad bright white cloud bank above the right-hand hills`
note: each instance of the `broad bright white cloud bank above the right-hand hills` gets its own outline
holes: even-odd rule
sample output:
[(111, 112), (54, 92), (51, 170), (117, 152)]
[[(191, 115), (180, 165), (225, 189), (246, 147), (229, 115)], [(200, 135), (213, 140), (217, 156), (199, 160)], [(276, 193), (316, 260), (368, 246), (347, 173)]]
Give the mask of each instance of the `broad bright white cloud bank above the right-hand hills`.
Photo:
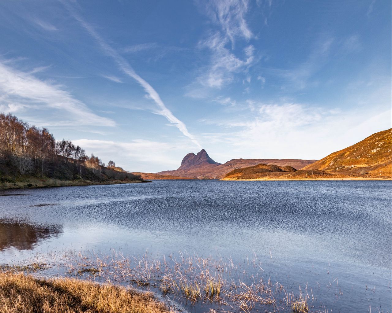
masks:
[(214, 141), (215, 149), (225, 151), (223, 159), (319, 159), (392, 126), (392, 110), (384, 101), (355, 110), (250, 102), (253, 112), (238, 112), (233, 119), (205, 121), (219, 126), (217, 133), (205, 136)]

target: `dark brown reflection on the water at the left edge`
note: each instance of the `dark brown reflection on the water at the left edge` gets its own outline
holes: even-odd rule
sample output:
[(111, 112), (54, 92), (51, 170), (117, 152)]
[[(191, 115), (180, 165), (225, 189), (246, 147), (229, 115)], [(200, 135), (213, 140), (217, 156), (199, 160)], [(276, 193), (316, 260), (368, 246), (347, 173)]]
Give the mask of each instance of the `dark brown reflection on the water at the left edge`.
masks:
[(32, 250), (37, 243), (62, 233), (58, 225), (42, 226), (0, 219), (0, 251), (6, 248)]

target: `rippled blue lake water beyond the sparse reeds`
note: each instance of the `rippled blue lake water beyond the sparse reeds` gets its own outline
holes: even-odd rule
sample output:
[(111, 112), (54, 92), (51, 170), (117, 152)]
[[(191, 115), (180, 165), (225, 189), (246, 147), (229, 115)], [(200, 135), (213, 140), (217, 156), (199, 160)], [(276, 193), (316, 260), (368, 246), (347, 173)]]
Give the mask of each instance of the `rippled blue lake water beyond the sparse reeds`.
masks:
[(391, 312), (391, 193), (388, 181), (206, 180), (7, 191), (0, 263), (69, 248), (256, 254), (263, 275), (312, 286), (328, 312)]

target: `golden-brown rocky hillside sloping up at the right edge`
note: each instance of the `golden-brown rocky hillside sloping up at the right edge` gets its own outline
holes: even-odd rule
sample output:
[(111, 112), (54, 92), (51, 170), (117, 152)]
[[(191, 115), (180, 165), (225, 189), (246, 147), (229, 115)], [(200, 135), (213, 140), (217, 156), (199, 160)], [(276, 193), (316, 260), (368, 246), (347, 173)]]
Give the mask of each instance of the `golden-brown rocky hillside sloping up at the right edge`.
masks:
[(391, 177), (391, 163), (392, 129), (389, 129), (331, 153), (325, 158), (303, 167), (303, 169), (320, 169), (353, 177)]

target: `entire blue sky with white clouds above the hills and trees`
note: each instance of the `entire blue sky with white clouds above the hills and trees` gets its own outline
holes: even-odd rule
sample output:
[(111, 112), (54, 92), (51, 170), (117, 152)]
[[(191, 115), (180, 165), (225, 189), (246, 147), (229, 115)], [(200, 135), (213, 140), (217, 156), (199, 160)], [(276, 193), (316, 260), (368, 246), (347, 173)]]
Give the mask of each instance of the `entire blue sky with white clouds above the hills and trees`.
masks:
[(391, 1), (2, 1), (0, 112), (130, 171), (391, 127)]

